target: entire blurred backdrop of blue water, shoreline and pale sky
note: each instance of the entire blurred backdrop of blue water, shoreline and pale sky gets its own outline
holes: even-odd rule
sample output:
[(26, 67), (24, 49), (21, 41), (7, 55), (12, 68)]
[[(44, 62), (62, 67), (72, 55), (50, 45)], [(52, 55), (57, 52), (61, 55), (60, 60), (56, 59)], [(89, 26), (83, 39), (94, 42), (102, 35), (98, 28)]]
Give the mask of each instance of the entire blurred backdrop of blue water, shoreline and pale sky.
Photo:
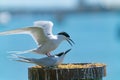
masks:
[[(105, 63), (104, 80), (119, 78), (119, 0), (0, 0), (0, 32), (32, 26), (36, 20), (52, 21), (54, 34), (65, 31), (75, 41), (64, 63)], [(8, 51), (35, 47), (28, 35), (0, 36), (0, 80), (27, 80), (27, 69), (33, 65), (10, 60)], [(63, 42), (52, 54), (69, 48)]]

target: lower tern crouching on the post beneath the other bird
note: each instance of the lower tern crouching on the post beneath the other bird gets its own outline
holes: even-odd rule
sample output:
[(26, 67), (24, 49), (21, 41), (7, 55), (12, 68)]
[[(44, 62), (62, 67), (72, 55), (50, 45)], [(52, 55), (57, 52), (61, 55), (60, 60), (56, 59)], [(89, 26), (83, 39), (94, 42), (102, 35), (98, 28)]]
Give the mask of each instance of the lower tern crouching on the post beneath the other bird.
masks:
[(53, 55), (50, 57), (44, 57), (40, 59), (26, 58), (18, 55), (13, 55), (13, 57), (15, 56), (15, 59), (13, 58), (13, 60), (19, 61), (19, 62), (32, 63), (32, 64), (40, 65), (43, 67), (57, 66), (63, 62), (66, 53), (68, 53), (70, 50), (71, 49), (68, 49), (65, 52), (61, 52), (56, 55)]

